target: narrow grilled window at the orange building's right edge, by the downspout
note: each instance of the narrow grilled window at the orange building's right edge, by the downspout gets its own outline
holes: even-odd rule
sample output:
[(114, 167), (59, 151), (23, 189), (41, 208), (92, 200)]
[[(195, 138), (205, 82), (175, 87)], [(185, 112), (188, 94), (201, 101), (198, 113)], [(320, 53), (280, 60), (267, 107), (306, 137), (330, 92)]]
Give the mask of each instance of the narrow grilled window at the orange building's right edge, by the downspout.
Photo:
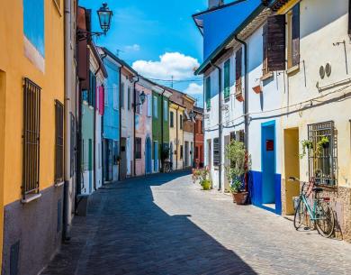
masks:
[(55, 182), (63, 181), (63, 105), (55, 100)]

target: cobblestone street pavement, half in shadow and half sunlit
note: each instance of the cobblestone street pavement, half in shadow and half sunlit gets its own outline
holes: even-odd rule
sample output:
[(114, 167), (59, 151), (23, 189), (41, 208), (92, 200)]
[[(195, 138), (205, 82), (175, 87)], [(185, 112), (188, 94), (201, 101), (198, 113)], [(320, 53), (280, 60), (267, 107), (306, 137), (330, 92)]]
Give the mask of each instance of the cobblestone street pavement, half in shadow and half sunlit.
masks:
[(186, 172), (97, 191), (42, 275), (351, 274), (351, 244), (231, 197)]

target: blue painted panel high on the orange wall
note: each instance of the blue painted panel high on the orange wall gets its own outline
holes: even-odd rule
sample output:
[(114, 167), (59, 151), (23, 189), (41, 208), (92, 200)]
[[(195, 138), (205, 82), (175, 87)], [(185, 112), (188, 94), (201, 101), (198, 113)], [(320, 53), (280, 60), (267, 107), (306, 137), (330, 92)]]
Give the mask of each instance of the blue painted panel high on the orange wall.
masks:
[(23, 32), (44, 57), (44, 0), (23, 0)]

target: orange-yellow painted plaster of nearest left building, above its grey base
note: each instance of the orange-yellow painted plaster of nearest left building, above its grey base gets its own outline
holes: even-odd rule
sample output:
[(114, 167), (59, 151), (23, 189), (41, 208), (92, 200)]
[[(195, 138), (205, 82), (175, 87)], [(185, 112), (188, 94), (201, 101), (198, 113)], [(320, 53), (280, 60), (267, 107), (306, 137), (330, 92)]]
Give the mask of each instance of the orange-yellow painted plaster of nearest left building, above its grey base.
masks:
[[(0, 130), (0, 149), (4, 148), (5, 164), (4, 177), (0, 178), (3, 179), (1, 184), (4, 185), (4, 206), (21, 199), (23, 78), (30, 78), (42, 88), (40, 97), (40, 189), (51, 187), (54, 181), (54, 100), (64, 102), (64, 18), (58, 13), (54, 1), (44, 1), (44, 3), (44, 72), (37, 69), (24, 56), (23, 1), (4, 0), (1, 3), (0, 70), (4, 71), (6, 82), (5, 95), (1, 94), (1, 99), (5, 98), (5, 120)], [(3, 111), (3, 106), (1, 106), (1, 112)], [(3, 116), (2, 113), (0, 115)], [(4, 147), (1, 147), (3, 138)], [(1, 168), (0, 176), (2, 176)]]

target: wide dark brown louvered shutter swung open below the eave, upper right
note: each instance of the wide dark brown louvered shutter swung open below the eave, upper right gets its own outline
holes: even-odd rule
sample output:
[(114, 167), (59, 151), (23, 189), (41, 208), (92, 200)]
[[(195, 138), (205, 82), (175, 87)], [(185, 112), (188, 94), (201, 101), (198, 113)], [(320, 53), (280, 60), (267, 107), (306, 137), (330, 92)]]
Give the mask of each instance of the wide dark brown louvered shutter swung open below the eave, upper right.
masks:
[(266, 68), (285, 69), (285, 15), (273, 15), (266, 24)]

